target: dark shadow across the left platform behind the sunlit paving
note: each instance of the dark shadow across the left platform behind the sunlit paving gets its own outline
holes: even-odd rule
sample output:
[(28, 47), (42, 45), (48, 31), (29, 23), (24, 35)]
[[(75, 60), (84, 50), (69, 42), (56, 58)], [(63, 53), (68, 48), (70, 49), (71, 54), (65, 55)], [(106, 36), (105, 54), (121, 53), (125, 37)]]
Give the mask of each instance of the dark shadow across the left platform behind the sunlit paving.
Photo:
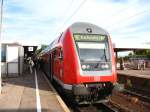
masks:
[[(39, 71), (39, 70), (37, 71), (39, 90), (52, 91), (52, 89), (48, 86), (48, 83), (46, 82), (43, 75), (44, 73), (42, 71)], [(3, 81), (3, 84), (2, 84), (3, 87), (7, 86), (8, 84), (11, 84), (11, 85), (16, 85), (16, 86), (36, 88), (34, 72), (32, 74), (26, 72), (20, 76), (15, 76), (15, 77), (5, 77), (2, 79), (2, 81)]]

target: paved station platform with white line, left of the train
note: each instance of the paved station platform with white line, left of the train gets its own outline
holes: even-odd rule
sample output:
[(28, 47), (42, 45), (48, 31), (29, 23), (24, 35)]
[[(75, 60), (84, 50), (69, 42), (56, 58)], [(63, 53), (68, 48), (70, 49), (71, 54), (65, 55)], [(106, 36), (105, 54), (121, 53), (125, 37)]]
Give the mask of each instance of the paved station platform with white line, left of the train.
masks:
[(0, 95), (0, 112), (69, 112), (40, 71), (6, 78), (4, 81)]

